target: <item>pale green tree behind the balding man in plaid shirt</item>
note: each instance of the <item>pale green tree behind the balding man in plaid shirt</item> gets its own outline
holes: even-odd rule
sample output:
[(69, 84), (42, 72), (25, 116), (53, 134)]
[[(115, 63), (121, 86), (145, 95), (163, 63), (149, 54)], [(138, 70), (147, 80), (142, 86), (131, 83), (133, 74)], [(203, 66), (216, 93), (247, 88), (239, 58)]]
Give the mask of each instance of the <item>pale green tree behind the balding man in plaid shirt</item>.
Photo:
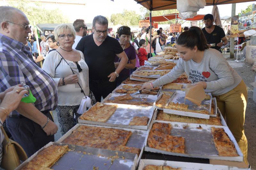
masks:
[(30, 24), (33, 24), (34, 21), (36, 24), (68, 23), (68, 19), (61, 14), (59, 9), (47, 10), (42, 8), (43, 5), (40, 2), (32, 4), (28, 0), (9, 0), (8, 6), (18, 8), (24, 12)]

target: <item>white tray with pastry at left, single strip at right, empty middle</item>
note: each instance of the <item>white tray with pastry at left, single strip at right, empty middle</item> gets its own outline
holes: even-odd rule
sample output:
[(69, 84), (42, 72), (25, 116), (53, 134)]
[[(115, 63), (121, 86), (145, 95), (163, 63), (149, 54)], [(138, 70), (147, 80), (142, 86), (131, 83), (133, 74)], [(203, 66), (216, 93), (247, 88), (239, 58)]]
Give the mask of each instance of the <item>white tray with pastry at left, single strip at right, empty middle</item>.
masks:
[[(153, 120), (150, 124), (149, 132), (152, 128), (153, 123), (161, 122), (166, 123), (166, 121)], [(231, 161), (243, 161), (243, 154), (236, 142), (235, 137), (232, 135), (228, 127), (225, 126), (214, 126), (214, 125), (199, 125), (193, 123), (181, 123), (181, 122), (169, 122), (172, 124), (171, 135), (173, 136), (182, 136), (185, 138), (185, 149), (187, 153), (174, 153), (168, 151), (162, 151), (155, 148), (150, 148), (145, 143), (145, 151), (154, 152), (154, 153), (162, 153), (167, 155), (174, 156), (184, 156), (191, 158), (207, 158), (207, 159), (219, 159), (219, 160), (231, 160)], [(184, 128), (186, 127), (186, 128)], [(198, 129), (202, 127), (203, 129)], [(230, 140), (234, 143), (236, 151), (239, 156), (237, 157), (224, 157), (218, 156), (218, 151), (215, 148), (213, 143), (213, 136), (211, 132), (211, 127), (223, 128), (224, 131), (228, 134)], [(147, 136), (148, 140), (148, 136)]]

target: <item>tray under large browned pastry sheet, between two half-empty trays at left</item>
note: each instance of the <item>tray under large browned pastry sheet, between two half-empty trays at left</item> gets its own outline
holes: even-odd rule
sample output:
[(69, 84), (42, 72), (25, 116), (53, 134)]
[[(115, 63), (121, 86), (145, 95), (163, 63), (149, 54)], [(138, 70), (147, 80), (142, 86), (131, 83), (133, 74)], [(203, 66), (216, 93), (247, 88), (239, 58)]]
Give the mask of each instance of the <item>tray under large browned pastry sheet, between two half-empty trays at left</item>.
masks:
[(99, 128), (114, 128), (114, 129), (121, 129), (121, 130), (127, 130), (131, 131), (132, 135), (128, 139), (126, 146), (128, 147), (135, 147), (140, 148), (140, 155), (138, 157), (138, 162), (136, 163), (136, 166), (138, 166), (140, 158), (143, 153), (143, 148), (147, 140), (148, 131), (146, 130), (135, 130), (135, 129), (127, 129), (127, 128), (116, 128), (116, 127), (108, 127), (108, 126), (100, 126), (100, 125), (89, 125), (89, 124), (76, 124), (73, 128), (71, 128), (65, 135), (60, 137), (60, 139), (57, 141), (57, 143), (61, 143), (64, 139), (66, 139), (69, 135), (72, 134), (74, 130), (76, 130), (79, 126), (91, 126), (91, 127), (99, 127)]

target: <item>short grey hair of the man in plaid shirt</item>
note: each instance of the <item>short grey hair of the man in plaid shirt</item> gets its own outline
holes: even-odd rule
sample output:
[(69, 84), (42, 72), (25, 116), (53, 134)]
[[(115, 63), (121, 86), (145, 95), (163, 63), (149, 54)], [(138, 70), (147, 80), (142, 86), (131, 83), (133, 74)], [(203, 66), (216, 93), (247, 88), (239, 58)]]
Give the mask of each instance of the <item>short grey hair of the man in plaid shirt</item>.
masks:
[(19, 9), (11, 7), (11, 6), (0, 6), (0, 23), (4, 22), (4, 21), (13, 22), (14, 12), (23, 13)]

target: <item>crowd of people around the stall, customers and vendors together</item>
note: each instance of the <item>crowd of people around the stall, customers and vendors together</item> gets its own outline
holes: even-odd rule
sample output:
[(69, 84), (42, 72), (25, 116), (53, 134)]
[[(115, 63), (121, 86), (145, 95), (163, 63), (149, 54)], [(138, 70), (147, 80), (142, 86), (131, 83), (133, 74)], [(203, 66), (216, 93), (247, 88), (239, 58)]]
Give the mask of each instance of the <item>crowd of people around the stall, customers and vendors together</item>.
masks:
[[(204, 77), (204, 81), (196, 82), (216, 96), (218, 107), (226, 115), (228, 127), (246, 158), (247, 140), (243, 128), (246, 86), (218, 52), (218, 48), (227, 43), (225, 35), (212, 24), (211, 15), (206, 15), (204, 21), (203, 30), (184, 28), (185, 32), (174, 38), (180, 52), (177, 66), (153, 83), (144, 84), (142, 89), (172, 82), (184, 71), (187, 74), (191, 70), (208, 71), (211, 75), (208, 79)], [(90, 35), (85, 36), (87, 27), (82, 19), (77, 19), (73, 26), (58, 25), (53, 35), (42, 35), (41, 55), (36, 56), (37, 42), (30, 35), (29, 21), (22, 11), (1, 6), (0, 23), (0, 122), (3, 124), (6, 120), (12, 138), (28, 156), (54, 141), (58, 127), (50, 111), (56, 110), (64, 135), (76, 124), (77, 110), (84, 97), (91, 105), (100, 102), (129, 77), (135, 67), (144, 65), (150, 49), (156, 50), (157, 38), (162, 48), (167, 40), (173, 41), (169, 38), (171, 33), (167, 36), (161, 28), (156, 35), (150, 35), (150, 27), (142, 27), (141, 34), (134, 37), (128, 26), (122, 26), (117, 30), (117, 37), (111, 37), (108, 19), (99, 15), (93, 19)], [(154, 32), (155, 28), (151, 27), (151, 33)], [(212, 42), (212, 38), (208, 39), (212, 34), (220, 39)], [(215, 46), (211, 45), (213, 43)], [(44, 61), (42, 68), (36, 64), (40, 61)], [(23, 94), (28, 93), (20, 87), (21, 83), (29, 86), (36, 97), (35, 103), (20, 102)]]

